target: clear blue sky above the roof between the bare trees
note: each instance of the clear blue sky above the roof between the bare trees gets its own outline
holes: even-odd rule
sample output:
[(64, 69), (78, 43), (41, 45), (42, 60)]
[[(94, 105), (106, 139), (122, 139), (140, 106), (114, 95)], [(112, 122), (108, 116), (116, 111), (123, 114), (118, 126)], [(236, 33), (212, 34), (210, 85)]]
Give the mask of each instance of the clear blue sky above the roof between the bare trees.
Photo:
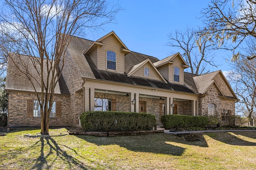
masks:
[[(104, 31), (84, 37), (97, 40), (114, 31), (131, 51), (164, 59), (180, 52), (166, 46), (168, 34), (176, 29), (202, 26), (200, 11), (208, 5), (207, 0), (119, 0), (124, 10), (116, 15), (116, 24), (105, 25)], [(226, 53), (216, 53), (214, 61), (218, 68), (209, 66), (210, 71), (229, 70)]]

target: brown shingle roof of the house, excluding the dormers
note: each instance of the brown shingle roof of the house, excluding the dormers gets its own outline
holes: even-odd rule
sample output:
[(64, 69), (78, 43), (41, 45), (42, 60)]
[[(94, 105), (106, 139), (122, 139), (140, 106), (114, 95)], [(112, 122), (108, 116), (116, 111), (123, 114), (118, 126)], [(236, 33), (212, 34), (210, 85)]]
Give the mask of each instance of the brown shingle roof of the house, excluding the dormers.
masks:
[[(163, 82), (158, 80), (151, 80), (148, 78), (127, 76), (127, 73), (133, 69), (136, 69), (136, 65), (140, 66), (141, 63), (149, 59), (155, 66), (159, 66), (163, 63), (169, 62), (172, 58), (176, 57), (176, 53), (165, 59), (159, 61), (156, 57), (143, 55), (136, 52), (130, 52), (124, 56), (124, 74), (116, 72), (108, 72), (106, 70), (98, 70), (95, 64), (92, 62), (91, 58), (84, 55), (84, 52), (94, 43), (87, 39), (82, 39), (79, 37), (73, 37), (72, 41), (68, 46), (68, 53), (72, 57), (81, 78), (93, 78), (99, 80), (106, 80), (112, 82), (120, 82), (125, 84), (133, 84), (137, 86), (147, 86), (152, 88), (162, 88), (166, 90), (173, 90), (179, 92), (187, 92), (192, 94), (204, 93), (207, 88), (214, 82), (213, 78), (218, 74), (219, 71), (204, 75), (196, 75), (184, 72), (184, 85), (174, 84), (170, 82)], [(24, 56), (26, 58), (26, 56)], [(28, 58), (28, 57), (27, 57)], [(27, 61), (28, 63), (31, 61)], [(32, 64), (28, 64), (28, 68), (33, 70)], [(9, 90), (26, 90), (34, 91), (33, 87), (30, 85), (28, 80), (17, 74), (17, 69), (13, 66), (12, 62), (8, 63), (8, 72), (6, 78), (6, 89)], [(35, 72), (34, 72), (35, 73)], [(39, 78), (35, 74), (36, 78)], [(37, 90), (40, 90), (40, 86), (36, 86)], [(69, 94), (68, 88), (62, 76), (56, 86), (55, 93), (57, 94)]]

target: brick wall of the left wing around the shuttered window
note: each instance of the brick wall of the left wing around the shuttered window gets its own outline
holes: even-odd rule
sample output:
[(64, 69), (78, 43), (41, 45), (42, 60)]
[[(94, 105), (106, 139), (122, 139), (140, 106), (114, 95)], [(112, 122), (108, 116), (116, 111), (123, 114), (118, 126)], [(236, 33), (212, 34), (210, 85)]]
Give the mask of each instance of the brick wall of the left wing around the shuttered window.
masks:
[[(40, 117), (27, 117), (27, 100), (37, 100), (35, 93), (10, 92), (8, 98), (8, 119), (10, 127), (17, 126), (38, 126), (40, 127)], [(50, 117), (50, 126), (70, 126), (69, 123), (69, 96), (55, 96), (54, 101), (61, 101), (61, 117)]]

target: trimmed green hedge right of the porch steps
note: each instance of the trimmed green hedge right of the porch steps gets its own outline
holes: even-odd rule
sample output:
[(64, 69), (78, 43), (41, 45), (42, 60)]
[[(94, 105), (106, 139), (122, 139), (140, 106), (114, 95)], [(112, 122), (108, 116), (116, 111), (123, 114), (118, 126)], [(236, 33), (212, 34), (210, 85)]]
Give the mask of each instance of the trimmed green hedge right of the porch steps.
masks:
[(208, 119), (204, 116), (162, 115), (161, 122), (165, 129), (178, 127), (207, 127)]

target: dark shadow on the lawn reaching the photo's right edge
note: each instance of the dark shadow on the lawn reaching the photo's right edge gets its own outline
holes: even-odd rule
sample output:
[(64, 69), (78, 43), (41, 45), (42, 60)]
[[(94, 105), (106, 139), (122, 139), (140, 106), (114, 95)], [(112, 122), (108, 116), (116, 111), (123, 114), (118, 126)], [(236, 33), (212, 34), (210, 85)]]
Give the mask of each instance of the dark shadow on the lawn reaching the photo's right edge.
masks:
[[(256, 143), (245, 141), (235, 135), (232, 135), (232, 133), (234, 133), (235, 135), (242, 135), (242, 136), (252, 138), (252, 136), (250, 136), (250, 133), (246, 133), (246, 131), (215, 132), (215, 133), (205, 133), (205, 134), (211, 137), (212, 139), (215, 139), (217, 141), (220, 141), (222, 143), (226, 143), (229, 145), (256, 146)], [(254, 139), (256, 139), (255, 135), (254, 135)]]

